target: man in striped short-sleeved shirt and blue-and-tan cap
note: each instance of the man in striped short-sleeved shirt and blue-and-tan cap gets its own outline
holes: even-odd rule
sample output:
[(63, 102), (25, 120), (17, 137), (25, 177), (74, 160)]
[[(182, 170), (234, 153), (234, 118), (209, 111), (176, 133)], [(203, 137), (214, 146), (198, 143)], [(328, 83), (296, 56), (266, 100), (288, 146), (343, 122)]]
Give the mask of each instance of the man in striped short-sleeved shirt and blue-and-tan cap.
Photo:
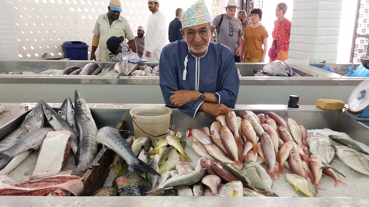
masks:
[[(135, 36), (132, 33), (130, 23), (124, 17), (120, 16), (122, 11), (119, 0), (111, 0), (108, 6), (108, 13), (101, 14), (97, 18), (95, 28), (93, 30), (91, 60), (96, 59), (96, 49), (100, 42), (99, 60), (110, 61), (108, 54), (110, 53), (106, 46), (106, 41), (111, 36), (124, 36), (131, 45), (132, 52), (137, 53)], [(125, 44), (125, 43), (124, 43)]]

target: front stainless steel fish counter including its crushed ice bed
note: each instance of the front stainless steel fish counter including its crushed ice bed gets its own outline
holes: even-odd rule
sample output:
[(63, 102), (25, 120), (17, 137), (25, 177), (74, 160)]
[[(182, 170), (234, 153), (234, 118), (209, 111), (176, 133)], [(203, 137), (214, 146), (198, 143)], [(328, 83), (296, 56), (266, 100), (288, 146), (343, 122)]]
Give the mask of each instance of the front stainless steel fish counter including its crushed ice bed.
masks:
[[(89, 101), (86, 98), (86, 101)], [(4, 138), (8, 133), (14, 130), (19, 123), (24, 119), (27, 112), (35, 106), (35, 103), (0, 103), (1, 105), (11, 106), (11, 112), (0, 114), (0, 139)], [(61, 103), (49, 103), (49, 105), (58, 109)], [(137, 106), (145, 106), (147, 104), (112, 104), (112, 103), (90, 103), (92, 116), (96, 122), (97, 128), (104, 126), (116, 127), (121, 119), (125, 119), (125, 129), (131, 131), (133, 135), (133, 124), (129, 114), (130, 109)], [(28, 106), (25, 107), (25, 106)], [(290, 117), (297, 123), (304, 125), (307, 129), (331, 129), (338, 132), (344, 132), (351, 138), (364, 144), (369, 144), (367, 134), (369, 126), (363, 122), (357, 122), (340, 111), (321, 110), (316, 106), (301, 105), (298, 110), (289, 110), (286, 105), (236, 105), (235, 113), (241, 116), (245, 110), (251, 110), (254, 113), (275, 112), (284, 119)], [(177, 109), (173, 109), (173, 131), (184, 131), (203, 126), (210, 126), (215, 121), (215, 118), (204, 113), (193, 119), (185, 115)], [(182, 137), (185, 138), (185, 137)], [(192, 138), (191, 138), (192, 140)], [(191, 143), (187, 141), (187, 147)], [(191, 141), (192, 142), (192, 141)], [(188, 153), (188, 152), (187, 152)], [(338, 166), (338, 162), (332, 163), (338, 170), (347, 168), (347, 166)], [(341, 164), (342, 165), (342, 164)], [(108, 171), (108, 169), (105, 169)], [(347, 182), (346, 185), (338, 185), (333, 187), (333, 180), (328, 180), (326, 184), (322, 184), (317, 197), (304, 197), (303, 193), (297, 192), (293, 185), (290, 185), (284, 175), (281, 175), (279, 180), (276, 180), (273, 185), (273, 190), (281, 197), (180, 197), (180, 196), (147, 196), (147, 197), (50, 197), (50, 196), (0, 196), (1, 206), (28, 206), (28, 207), (43, 207), (43, 206), (146, 206), (146, 207), (224, 207), (224, 206), (274, 206), (274, 207), (298, 207), (298, 206), (369, 206), (367, 198), (367, 186), (369, 177), (360, 175), (354, 171), (346, 170), (347, 179), (342, 181)], [(100, 173), (93, 181), (105, 180), (106, 173)], [(328, 179), (327, 176), (322, 178), (321, 183), (326, 182), (323, 179)], [(280, 182), (284, 185), (280, 186)], [(356, 182), (356, 183), (353, 183)], [(359, 183), (358, 183), (359, 182)], [(101, 183), (101, 182), (100, 182)], [(101, 185), (101, 184), (100, 184)], [(85, 186), (86, 187), (86, 186)], [(99, 188), (101, 186), (94, 186)]]

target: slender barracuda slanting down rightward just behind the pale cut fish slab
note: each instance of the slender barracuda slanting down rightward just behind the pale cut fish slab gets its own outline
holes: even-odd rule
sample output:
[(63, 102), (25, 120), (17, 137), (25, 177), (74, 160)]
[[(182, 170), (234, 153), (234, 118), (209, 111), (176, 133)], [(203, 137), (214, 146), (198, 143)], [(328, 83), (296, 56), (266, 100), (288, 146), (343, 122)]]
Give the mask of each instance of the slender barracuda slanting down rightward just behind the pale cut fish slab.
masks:
[(55, 110), (52, 109), (47, 103), (43, 102), (43, 106), (46, 118), (48, 119), (50, 125), (56, 131), (69, 131), (70, 133), (72, 133), (72, 135), (70, 135), (69, 143), (73, 153), (76, 154), (78, 148), (78, 140), (76, 132), (73, 130), (71, 126), (69, 126), (68, 122), (66, 122), (58, 113), (56, 113)]

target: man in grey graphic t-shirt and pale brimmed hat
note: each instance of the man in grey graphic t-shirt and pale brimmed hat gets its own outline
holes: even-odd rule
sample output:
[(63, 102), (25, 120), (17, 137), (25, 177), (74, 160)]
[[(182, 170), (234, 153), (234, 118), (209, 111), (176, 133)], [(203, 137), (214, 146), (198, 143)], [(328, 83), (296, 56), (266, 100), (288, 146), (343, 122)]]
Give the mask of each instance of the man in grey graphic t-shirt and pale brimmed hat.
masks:
[[(240, 7), (237, 7), (235, 0), (230, 0), (227, 3), (227, 7), (224, 8), (226, 13), (216, 16), (213, 20), (213, 25), (217, 30), (217, 42), (230, 48), (234, 55), (234, 61), (239, 63), (243, 45), (242, 35), (244, 35), (244, 31), (242, 30), (241, 21), (239, 21), (235, 15), (236, 9)], [(222, 15), (223, 20), (221, 20)], [(219, 24), (220, 29), (218, 31)]]

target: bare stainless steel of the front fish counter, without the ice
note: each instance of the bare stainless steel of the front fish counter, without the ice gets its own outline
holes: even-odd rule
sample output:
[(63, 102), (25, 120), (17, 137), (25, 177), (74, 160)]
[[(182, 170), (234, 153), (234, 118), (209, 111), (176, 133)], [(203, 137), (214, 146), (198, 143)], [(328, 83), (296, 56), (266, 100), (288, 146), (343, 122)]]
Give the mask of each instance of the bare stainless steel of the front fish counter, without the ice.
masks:
[[(1, 103), (3, 104), (3, 103)], [(4, 105), (9, 105), (4, 103)], [(33, 106), (34, 103), (11, 103), (17, 108), (0, 119), (0, 132), (9, 125), (16, 127), (18, 120), (25, 116), (24, 106)], [(61, 103), (50, 103), (53, 108), (58, 108)], [(120, 119), (130, 119), (129, 110), (143, 104), (101, 104), (91, 103), (89, 107), (95, 117), (97, 126), (114, 126)], [(252, 110), (255, 113), (273, 111), (280, 116), (299, 120), (299, 123), (308, 129), (330, 128), (335, 131), (345, 132), (357, 141), (369, 144), (367, 138), (369, 127), (366, 122), (357, 122), (339, 111), (320, 110), (315, 106), (300, 106), (298, 110), (289, 110), (286, 105), (236, 105), (235, 112), (241, 115), (244, 110)], [(194, 127), (207, 126), (215, 120), (204, 113), (200, 113), (197, 119), (173, 110), (173, 130), (184, 131)], [(303, 119), (301, 117), (304, 117)], [(7, 124), (7, 127), (6, 127)], [(127, 122), (128, 130), (133, 131), (132, 123)], [(4, 134), (0, 135), (0, 138)], [(293, 188), (293, 186), (290, 186)], [(358, 189), (362, 190), (362, 189)], [(299, 206), (369, 206), (369, 199), (363, 197), (48, 197), (48, 196), (1, 196), (1, 206), (145, 206), (145, 207), (224, 207), (224, 206), (274, 206), (274, 207), (299, 207)]]

